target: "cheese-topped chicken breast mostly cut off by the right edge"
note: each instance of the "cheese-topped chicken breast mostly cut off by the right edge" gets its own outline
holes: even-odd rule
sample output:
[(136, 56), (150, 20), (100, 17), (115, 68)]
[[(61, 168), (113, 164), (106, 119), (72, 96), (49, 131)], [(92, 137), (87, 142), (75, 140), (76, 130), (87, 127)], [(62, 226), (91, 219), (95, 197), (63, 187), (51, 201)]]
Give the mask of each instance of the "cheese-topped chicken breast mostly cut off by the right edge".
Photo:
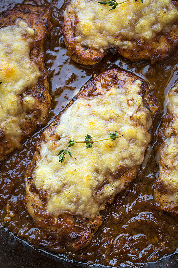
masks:
[(167, 96), (167, 114), (159, 129), (160, 173), (154, 184), (154, 198), (160, 209), (178, 213), (178, 84)]

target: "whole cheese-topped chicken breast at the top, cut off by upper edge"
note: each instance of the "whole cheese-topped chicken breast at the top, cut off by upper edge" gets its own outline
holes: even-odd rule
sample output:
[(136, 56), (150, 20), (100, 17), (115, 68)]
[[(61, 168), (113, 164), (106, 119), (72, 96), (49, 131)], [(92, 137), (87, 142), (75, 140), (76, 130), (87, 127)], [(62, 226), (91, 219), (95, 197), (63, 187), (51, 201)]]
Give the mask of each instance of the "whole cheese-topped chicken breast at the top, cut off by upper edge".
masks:
[(62, 25), (67, 55), (83, 65), (98, 63), (108, 52), (131, 61), (167, 59), (178, 45), (174, 4), (171, 0), (131, 0), (110, 10), (108, 4), (96, 0), (71, 0)]

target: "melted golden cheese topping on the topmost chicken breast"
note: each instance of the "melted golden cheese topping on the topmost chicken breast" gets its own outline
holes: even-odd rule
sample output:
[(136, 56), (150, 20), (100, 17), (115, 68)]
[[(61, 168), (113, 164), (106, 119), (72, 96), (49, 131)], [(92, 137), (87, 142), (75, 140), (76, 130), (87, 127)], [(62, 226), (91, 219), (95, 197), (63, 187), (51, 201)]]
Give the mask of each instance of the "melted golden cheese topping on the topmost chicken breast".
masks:
[(96, 0), (72, 0), (64, 18), (77, 14), (73, 21), (76, 42), (92, 49), (132, 49), (131, 39), (150, 41), (161, 30), (177, 28), (172, 25), (178, 18), (178, 9), (171, 0), (131, 0), (110, 9)]

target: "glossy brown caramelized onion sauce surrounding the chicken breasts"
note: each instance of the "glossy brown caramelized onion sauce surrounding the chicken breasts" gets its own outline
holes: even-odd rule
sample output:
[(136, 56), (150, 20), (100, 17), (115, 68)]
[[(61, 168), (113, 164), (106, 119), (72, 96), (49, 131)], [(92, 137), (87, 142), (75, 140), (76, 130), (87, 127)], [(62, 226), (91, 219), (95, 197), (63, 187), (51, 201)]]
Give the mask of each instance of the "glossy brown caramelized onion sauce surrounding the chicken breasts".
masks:
[[(80, 87), (94, 74), (111, 67), (120, 67), (142, 77), (155, 90), (162, 113), (165, 110), (165, 95), (178, 78), (178, 54), (170, 60), (151, 65), (150, 62), (131, 63), (119, 55), (109, 54), (94, 67), (75, 64), (66, 56), (66, 48), (61, 36), (63, 11), (69, 1), (33, 0), (23, 3), (48, 7), (52, 10), (53, 27), (45, 43), (46, 67), (53, 98), (49, 123), (74, 97)], [(1, 0), (0, 11), (22, 4), (21, 0)], [(49, 124), (48, 123), (48, 124)], [(44, 128), (26, 139), (23, 148), (16, 150), (4, 162), (0, 171), (0, 218), (1, 225), (15, 236), (28, 241), (35, 247), (45, 247), (66, 260), (103, 264), (117, 267), (121, 263), (138, 265), (154, 262), (164, 255), (173, 253), (178, 247), (178, 218), (155, 209), (152, 185), (158, 177), (156, 151), (158, 121), (155, 134), (148, 147), (138, 176), (130, 187), (118, 194), (111, 205), (107, 205), (103, 223), (90, 245), (77, 253), (71, 253), (67, 245), (58, 244), (47, 236), (34, 221), (23, 204), (25, 196), (24, 174), (33, 155), (34, 145)]]

